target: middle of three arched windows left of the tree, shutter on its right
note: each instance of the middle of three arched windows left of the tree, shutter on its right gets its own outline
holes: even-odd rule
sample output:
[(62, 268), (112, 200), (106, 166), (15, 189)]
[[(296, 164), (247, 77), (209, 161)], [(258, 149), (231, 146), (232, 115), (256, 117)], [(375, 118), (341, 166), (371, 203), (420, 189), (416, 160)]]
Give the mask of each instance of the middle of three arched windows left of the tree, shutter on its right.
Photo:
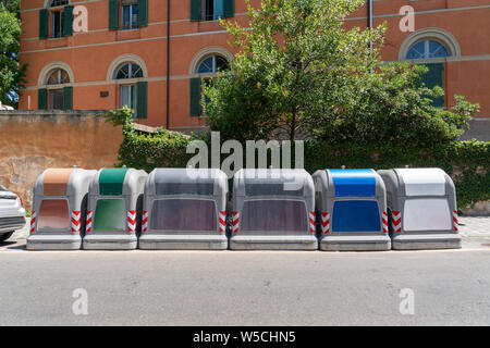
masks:
[[(134, 82), (134, 78), (143, 77), (143, 69), (136, 63), (123, 63), (115, 71), (113, 76), (114, 79), (120, 82), (120, 108), (127, 107), (133, 109), (136, 119), (146, 117), (147, 83)], [(124, 82), (124, 79), (133, 80)]]

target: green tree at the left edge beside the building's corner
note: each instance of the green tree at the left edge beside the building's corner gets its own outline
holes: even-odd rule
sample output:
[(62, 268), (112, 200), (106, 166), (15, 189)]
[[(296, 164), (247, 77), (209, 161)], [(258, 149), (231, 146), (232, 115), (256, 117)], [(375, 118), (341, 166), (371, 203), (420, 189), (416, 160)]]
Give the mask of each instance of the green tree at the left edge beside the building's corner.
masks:
[(27, 67), (19, 65), (20, 13), (20, 0), (0, 1), (0, 101), (14, 107)]

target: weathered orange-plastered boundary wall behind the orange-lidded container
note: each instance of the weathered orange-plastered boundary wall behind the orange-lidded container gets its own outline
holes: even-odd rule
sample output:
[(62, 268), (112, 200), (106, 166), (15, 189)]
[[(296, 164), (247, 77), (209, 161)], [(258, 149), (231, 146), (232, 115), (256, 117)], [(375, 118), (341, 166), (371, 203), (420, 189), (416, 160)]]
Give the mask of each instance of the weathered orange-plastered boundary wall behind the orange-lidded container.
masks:
[(106, 123), (100, 113), (0, 111), (0, 184), (30, 210), (34, 183), (47, 167), (113, 166), (122, 129)]

